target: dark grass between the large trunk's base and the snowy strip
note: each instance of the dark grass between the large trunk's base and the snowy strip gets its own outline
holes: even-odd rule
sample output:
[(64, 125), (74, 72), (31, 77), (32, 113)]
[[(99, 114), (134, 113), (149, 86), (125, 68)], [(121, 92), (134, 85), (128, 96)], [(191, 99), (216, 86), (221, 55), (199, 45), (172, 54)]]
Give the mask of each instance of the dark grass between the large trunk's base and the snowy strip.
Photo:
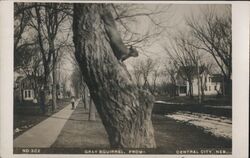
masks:
[(196, 126), (154, 115), (152, 118), (157, 153), (175, 153), (176, 150), (230, 149), (232, 141), (215, 137)]

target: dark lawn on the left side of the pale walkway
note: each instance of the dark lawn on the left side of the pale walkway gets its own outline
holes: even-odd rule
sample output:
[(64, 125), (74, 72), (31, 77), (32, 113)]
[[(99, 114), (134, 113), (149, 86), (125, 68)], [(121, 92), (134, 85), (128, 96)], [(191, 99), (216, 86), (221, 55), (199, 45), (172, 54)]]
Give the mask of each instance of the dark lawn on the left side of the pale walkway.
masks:
[[(58, 107), (53, 113), (60, 111), (69, 103), (70, 103), (70, 99), (58, 100), (57, 101)], [(34, 104), (32, 102), (24, 102), (24, 103), (19, 103), (19, 104), (15, 103), (14, 126), (13, 126), (14, 138), (21, 135), (22, 133), (24, 133), (31, 127), (40, 123), (41, 121), (47, 119), (53, 113), (50, 112), (45, 115), (41, 114), (39, 105)]]

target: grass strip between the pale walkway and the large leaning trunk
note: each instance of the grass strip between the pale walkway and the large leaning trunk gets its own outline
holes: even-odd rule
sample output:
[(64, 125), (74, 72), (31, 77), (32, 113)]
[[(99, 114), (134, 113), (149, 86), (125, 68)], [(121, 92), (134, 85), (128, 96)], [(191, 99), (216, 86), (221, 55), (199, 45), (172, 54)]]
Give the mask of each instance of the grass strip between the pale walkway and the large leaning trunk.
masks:
[(88, 110), (85, 110), (83, 103), (80, 102), (51, 147), (109, 148), (108, 135), (98, 114), (96, 113), (95, 121), (89, 121), (88, 117)]

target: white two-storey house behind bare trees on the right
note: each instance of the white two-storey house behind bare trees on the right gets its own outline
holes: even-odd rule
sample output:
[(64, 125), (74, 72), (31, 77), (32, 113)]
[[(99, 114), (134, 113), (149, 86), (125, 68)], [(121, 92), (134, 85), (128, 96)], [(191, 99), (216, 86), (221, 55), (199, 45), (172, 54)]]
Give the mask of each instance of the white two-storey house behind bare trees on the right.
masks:
[[(197, 70), (197, 69), (196, 69)], [(209, 74), (208, 71), (202, 71), (200, 76), (200, 93), (204, 95), (218, 95), (222, 94), (222, 82), (223, 76), (221, 74)], [(178, 96), (188, 96), (189, 95), (189, 82), (177, 75), (176, 87)], [(192, 94), (197, 96), (198, 90), (198, 79), (197, 75), (194, 73), (192, 79)]]

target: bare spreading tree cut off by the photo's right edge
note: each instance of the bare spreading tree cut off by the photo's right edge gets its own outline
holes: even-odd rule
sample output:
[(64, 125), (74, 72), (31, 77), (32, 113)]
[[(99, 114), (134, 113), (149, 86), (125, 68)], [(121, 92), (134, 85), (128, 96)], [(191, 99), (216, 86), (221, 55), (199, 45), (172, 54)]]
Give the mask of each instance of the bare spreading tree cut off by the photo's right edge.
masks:
[(187, 24), (197, 43), (192, 43), (198, 49), (202, 49), (212, 55), (219, 66), (226, 82), (226, 91), (231, 93), (232, 74), (232, 22), (231, 10), (222, 14), (216, 14), (215, 8), (203, 9), (201, 17), (187, 18)]

